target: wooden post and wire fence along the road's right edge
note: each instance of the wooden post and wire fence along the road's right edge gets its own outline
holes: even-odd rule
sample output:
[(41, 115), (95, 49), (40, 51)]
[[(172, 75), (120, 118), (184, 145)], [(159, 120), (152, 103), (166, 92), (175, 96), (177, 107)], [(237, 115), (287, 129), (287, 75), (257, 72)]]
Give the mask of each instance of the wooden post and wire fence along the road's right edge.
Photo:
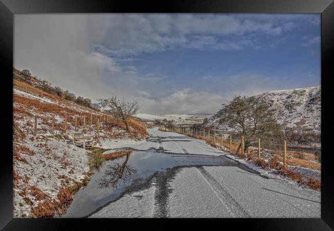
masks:
[[(185, 134), (196, 139), (207, 141), (211, 146), (228, 152), (230, 155), (246, 157), (254, 155), (259, 159), (271, 159), (275, 156), (281, 157), (284, 167), (287, 162), (290, 165), (313, 165), (321, 164), (321, 150), (301, 146), (289, 145), (286, 141), (264, 141), (261, 139), (246, 140), (242, 136), (232, 136), (221, 130), (193, 127), (165, 127), (160, 130), (173, 131)], [(305, 162), (305, 163), (302, 163)], [(309, 162), (309, 163), (306, 163)], [(319, 166), (318, 166), (319, 167)]]

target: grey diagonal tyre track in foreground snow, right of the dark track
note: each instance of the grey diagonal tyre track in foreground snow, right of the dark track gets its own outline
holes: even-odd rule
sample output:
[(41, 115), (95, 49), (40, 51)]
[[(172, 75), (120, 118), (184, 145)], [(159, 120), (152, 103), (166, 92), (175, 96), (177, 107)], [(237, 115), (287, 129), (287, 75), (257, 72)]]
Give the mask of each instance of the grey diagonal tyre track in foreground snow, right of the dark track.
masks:
[(235, 201), (226, 188), (220, 185), (202, 166), (197, 167), (200, 175), (206, 180), (212, 190), (215, 192), (216, 196), (219, 198), (221, 203), (226, 207), (233, 217), (248, 218), (250, 215), (245, 211), (245, 209)]

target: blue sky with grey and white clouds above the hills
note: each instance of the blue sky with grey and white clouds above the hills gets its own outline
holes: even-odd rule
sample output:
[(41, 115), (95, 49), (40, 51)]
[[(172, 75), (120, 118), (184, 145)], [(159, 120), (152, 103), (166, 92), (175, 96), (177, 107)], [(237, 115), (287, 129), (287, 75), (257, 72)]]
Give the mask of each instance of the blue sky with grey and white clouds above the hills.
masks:
[(320, 14), (15, 14), (14, 67), (141, 113), (320, 85)]

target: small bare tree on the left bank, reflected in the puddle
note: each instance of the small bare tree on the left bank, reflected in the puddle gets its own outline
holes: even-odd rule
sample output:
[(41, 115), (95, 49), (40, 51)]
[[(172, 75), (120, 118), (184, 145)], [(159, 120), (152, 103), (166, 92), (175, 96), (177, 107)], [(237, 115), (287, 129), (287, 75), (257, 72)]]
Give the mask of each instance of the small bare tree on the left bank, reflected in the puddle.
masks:
[(98, 101), (101, 108), (113, 113), (116, 118), (121, 119), (125, 124), (126, 131), (129, 132), (127, 120), (139, 110), (139, 100), (126, 102), (124, 97), (122, 100), (119, 100), (117, 99), (117, 95), (113, 94), (111, 98), (98, 99)]

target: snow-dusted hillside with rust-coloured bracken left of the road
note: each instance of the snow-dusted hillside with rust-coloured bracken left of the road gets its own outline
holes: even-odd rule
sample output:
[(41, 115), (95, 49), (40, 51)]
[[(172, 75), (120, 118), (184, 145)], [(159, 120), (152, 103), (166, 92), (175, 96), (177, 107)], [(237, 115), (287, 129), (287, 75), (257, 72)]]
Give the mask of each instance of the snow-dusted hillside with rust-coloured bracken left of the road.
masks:
[(14, 72), (13, 216), (62, 215), (72, 201), (71, 194), (85, 186), (90, 175), (91, 158), (88, 150), (72, 144), (74, 132), (92, 136), (94, 147), (103, 148), (110, 148), (108, 144), (115, 146), (118, 141), (139, 142), (148, 133), (136, 118), (128, 120), (128, 133), (124, 123), (112, 115), (47, 93), (35, 87), (43, 84), (38, 80), (29, 84), (15, 75)]

